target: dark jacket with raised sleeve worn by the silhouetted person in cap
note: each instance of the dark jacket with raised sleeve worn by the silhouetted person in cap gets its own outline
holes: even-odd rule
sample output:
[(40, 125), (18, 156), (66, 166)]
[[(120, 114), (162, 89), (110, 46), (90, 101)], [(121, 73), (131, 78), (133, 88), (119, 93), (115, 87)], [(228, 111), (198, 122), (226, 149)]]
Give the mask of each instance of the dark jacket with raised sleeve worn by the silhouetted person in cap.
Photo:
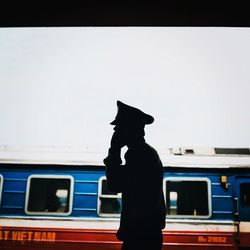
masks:
[(128, 149), (125, 160), (121, 165), (120, 154), (112, 149), (104, 160), (109, 189), (122, 192), (121, 240), (130, 230), (163, 229), (166, 216), (163, 166), (156, 150), (143, 140)]

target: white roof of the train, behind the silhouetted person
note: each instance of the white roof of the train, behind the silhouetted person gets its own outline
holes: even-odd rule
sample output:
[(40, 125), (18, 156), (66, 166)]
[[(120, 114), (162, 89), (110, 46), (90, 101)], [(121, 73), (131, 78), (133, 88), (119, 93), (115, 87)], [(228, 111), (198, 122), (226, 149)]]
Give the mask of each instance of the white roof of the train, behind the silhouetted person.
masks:
[[(249, 154), (248, 154), (249, 152)], [(0, 164), (104, 166), (106, 152), (0, 148)], [(164, 167), (250, 168), (250, 150), (177, 148), (159, 151)]]

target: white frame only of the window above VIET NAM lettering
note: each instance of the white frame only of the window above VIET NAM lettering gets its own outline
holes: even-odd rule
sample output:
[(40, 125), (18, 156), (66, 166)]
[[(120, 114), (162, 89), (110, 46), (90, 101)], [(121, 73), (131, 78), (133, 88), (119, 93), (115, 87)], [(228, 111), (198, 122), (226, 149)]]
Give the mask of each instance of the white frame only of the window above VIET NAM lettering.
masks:
[[(30, 183), (32, 178), (39, 178), (39, 179), (69, 179), (70, 186), (69, 186), (69, 211), (67, 213), (63, 212), (31, 212), (28, 211), (28, 202), (29, 202), (29, 195), (30, 195)], [(32, 174), (27, 179), (26, 185), (26, 196), (25, 196), (25, 213), (28, 215), (58, 215), (58, 216), (68, 216), (72, 213), (73, 210), (73, 194), (74, 194), (74, 178), (71, 175), (48, 175), (48, 174)]]

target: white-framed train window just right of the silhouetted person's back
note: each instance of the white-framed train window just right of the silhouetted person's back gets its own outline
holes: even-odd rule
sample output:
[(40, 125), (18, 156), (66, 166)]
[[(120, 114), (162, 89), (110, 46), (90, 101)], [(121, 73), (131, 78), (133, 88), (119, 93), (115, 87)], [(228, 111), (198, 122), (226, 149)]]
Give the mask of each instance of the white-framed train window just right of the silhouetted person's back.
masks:
[(211, 216), (210, 181), (207, 178), (166, 178), (164, 182), (168, 217)]

